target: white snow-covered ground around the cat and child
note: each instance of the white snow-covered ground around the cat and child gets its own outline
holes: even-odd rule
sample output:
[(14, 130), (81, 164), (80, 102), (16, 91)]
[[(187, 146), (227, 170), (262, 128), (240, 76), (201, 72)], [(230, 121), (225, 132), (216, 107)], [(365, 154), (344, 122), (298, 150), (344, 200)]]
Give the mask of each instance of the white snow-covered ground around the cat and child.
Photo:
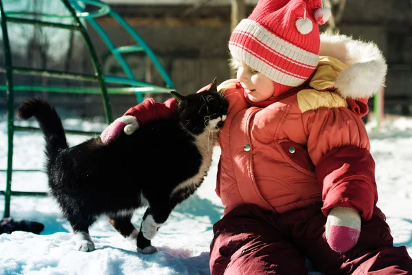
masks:
[[(101, 131), (98, 121), (65, 120), (65, 128)], [(35, 125), (35, 124), (34, 124)], [(371, 130), (371, 151), (376, 160), (378, 206), (387, 215), (396, 245), (407, 245), (412, 254), (412, 120), (400, 118), (385, 125), (380, 133)], [(0, 168), (6, 167), (6, 123), (0, 117)], [(87, 137), (69, 135), (70, 144)], [(14, 168), (42, 168), (41, 133), (16, 133)], [(79, 252), (71, 239), (69, 223), (60, 217), (50, 198), (14, 197), (11, 215), (45, 224), (41, 235), (13, 232), (0, 235), (0, 275), (2, 274), (209, 274), (209, 243), (212, 225), (220, 219), (222, 205), (214, 193), (219, 149), (205, 183), (178, 206), (152, 241), (159, 252), (138, 254), (106, 219), (91, 228), (96, 250)], [(144, 171), (141, 171), (144, 173)], [(13, 190), (47, 190), (43, 173), (13, 173)], [(5, 173), (0, 173), (0, 190)], [(115, 188), (115, 186), (113, 186)], [(4, 198), (0, 197), (0, 217)], [(133, 223), (139, 225), (144, 210), (138, 210)]]

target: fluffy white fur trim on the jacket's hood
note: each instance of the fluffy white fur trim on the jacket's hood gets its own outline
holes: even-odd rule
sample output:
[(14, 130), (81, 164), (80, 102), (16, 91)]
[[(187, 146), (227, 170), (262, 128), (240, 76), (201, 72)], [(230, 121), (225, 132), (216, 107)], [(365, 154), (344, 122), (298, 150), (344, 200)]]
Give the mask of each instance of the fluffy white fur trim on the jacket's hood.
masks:
[(370, 98), (385, 84), (387, 64), (374, 43), (341, 34), (321, 34), (319, 56), (338, 58), (347, 66), (334, 83), (343, 98)]

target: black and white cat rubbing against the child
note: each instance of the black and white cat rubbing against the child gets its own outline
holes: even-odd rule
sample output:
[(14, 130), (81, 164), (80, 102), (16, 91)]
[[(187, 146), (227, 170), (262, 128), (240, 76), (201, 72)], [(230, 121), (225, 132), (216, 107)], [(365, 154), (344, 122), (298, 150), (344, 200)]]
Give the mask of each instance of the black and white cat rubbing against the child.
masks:
[[(171, 118), (148, 122), (108, 144), (95, 137), (70, 148), (47, 102), (28, 99), (19, 107), (18, 117), (34, 116), (44, 133), (50, 193), (71, 223), (79, 250), (95, 249), (89, 226), (105, 214), (137, 251), (157, 252), (150, 240), (172, 209), (201, 186), (229, 105), (216, 83), (198, 94), (172, 95), (177, 110)], [(130, 219), (145, 203), (137, 230)]]

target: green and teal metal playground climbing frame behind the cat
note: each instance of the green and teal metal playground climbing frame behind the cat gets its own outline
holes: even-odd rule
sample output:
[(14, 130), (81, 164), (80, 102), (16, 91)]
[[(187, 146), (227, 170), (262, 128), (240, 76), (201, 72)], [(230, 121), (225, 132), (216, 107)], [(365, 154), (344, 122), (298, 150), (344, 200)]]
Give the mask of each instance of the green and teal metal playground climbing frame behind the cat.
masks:
[[(141, 93), (144, 92), (157, 92), (157, 93), (168, 93), (171, 89), (174, 89), (174, 84), (169, 77), (168, 73), (165, 71), (164, 67), (161, 65), (159, 59), (155, 55), (154, 52), (148, 47), (141, 36), (137, 34), (137, 32), (122, 18), (111, 10), (110, 6), (106, 3), (102, 3), (98, 0), (61, 0), (62, 3), (65, 4), (65, 7), (69, 11), (69, 15), (67, 14), (40, 14), (43, 17), (71, 17), (73, 18), (74, 24), (69, 25), (65, 23), (53, 23), (49, 21), (40, 21), (34, 19), (25, 19), (19, 16), (27, 15), (24, 12), (5, 12), (3, 8), (2, 0), (0, 0), (0, 14), (1, 14), (1, 31), (3, 33), (3, 44), (4, 44), (4, 53), (5, 53), (5, 68), (0, 68), (0, 72), (5, 72), (6, 75), (6, 83), (5, 85), (0, 85), (1, 90), (6, 91), (6, 97), (8, 102), (8, 162), (7, 162), (7, 170), (0, 170), (6, 171), (6, 188), (5, 191), (0, 191), (0, 194), (5, 196), (5, 208), (4, 208), (4, 217), (10, 216), (10, 199), (12, 195), (14, 196), (43, 196), (46, 195), (45, 192), (17, 192), (12, 191), (12, 172), (13, 171), (25, 171), (25, 172), (33, 172), (39, 170), (12, 170), (12, 157), (13, 157), (13, 137), (14, 131), (38, 131), (38, 129), (33, 127), (23, 127), (23, 126), (16, 126), (14, 125), (14, 89), (20, 91), (52, 91), (52, 92), (69, 92), (69, 93), (101, 93), (102, 100), (104, 104), (104, 111), (106, 115), (106, 120), (108, 123), (113, 121), (112, 113), (111, 113), (111, 105), (109, 102), (108, 94), (130, 94), (134, 93), (137, 96), (137, 100), (139, 102), (143, 100), (143, 96)], [(100, 9), (95, 12), (87, 12), (79, 2), (86, 3), (89, 5), (98, 6)], [(38, 14), (36, 14), (38, 15)], [(102, 27), (95, 21), (94, 18), (102, 17), (104, 15), (109, 15), (115, 19), (119, 25), (124, 28), (130, 36), (138, 43), (138, 45), (131, 45), (125, 47), (115, 47), (111, 40), (108, 38), (108, 35)], [(98, 62), (98, 56), (95, 52), (93, 44), (91, 43), (91, 39), (89, 34), (87, 33), (86, 28), (80, 21), (80, 19), (84, 19), (90, 23), (91, 26), (100, 34), (104, 43), (107, 45), (108, 49), (111, 51), (113, 56), (117, 58), (122, 69), (126, 73), (126, 78), (117, 77), (117, 76), (104, 76), (102, 72), (102, 67)], [(82, 34), (84, 42), (87, 45), (87, 49), (91, 54), (91, 59), (93, 63), (93, 67), (95, 69), (94, 75), (84, 75), (84, 74), (73, 74), (68, 72), (58, 72), (46, 69), (28, 69), (24, 67), (13, 67), (12, 65), (12, 58), (10, 52), (10, 41), (8, 36), (8, 29), (7, 23), (23, 23), (23, 24), (31, 24), (31, 25), (40, 25), (52, 28), (63, 28), (69, 30), (77, 30)], [(163, 80), (165, 81), (166, 87), (159, 87), (158, 85), (153, 85), (150, 83), (145, 83), (142, 81), (138, 81), (133, 76), (133, 72), (130, 69), (128, 63), (124, 60), (122, 53), (126, 52), (137, 52), (143, 51), (147, 54), (150, 58), (152, 63), (155, 65), (159, 73), (161, 74)], [(43, 86), (26, 86), (26, 85), (13, 85), (13, 74), (32, 74), (37, 76), (47, 76), (47, 77), (57, 77), (57, 78), (67, 78), (67, 79), (78, 79), (78, 80), (93, 80), (98, 82), (100, 85), (100, 89), (94, 88), (73, 88), (73, 87), (43, 87)], [(123, 87), (123, 88), (111, 88), (108, 89), (106, 87), (106, 83), (117, 83), (128, 85), (130, 87)], [(67, 133), (77, 133), (77, 134), (93, 134), (90, 132), (84, 131), (66, 131)]]

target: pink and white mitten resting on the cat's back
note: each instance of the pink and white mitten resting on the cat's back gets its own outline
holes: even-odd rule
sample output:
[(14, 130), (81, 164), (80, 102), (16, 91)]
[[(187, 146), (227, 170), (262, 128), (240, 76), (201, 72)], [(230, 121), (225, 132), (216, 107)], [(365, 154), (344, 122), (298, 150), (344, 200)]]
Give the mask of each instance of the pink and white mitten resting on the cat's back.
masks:
[(137, 123), (133, 115), (124, 115), (108, 125), (100, 135), (100, 138), (104, 144), (107, 144), (111, 140), (115, 140), (115, 138), (122, 133), (122, 130), (126, 135), (131, 135), (135, 133), (138, 128), (139, 123)]

